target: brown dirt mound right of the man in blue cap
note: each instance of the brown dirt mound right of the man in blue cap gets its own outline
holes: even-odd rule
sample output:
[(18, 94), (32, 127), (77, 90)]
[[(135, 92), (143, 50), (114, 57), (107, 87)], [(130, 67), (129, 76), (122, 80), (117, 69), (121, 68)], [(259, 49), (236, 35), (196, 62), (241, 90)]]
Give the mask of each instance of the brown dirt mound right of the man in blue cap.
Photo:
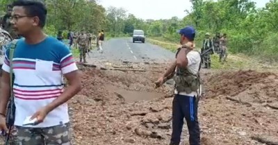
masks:
[(270, 87), (275, 89), (272, 86), (275, 79), (277, 79), (277, 75), (270, 72), (225, 71), (221, 74), (213, 74), (206, 80), (206, 96), (236, 96), (258, 84), (264, 84), (264, 90)]

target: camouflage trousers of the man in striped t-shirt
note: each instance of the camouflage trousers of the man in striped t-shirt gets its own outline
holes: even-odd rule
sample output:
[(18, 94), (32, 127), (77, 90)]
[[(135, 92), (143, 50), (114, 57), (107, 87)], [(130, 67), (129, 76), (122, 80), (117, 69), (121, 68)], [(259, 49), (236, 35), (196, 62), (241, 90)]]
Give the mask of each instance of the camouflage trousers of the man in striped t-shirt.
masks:
[(17, 126), (17, 142), (20, 145), (71, 145), (70, 123), (49, 128), (24, 128)]

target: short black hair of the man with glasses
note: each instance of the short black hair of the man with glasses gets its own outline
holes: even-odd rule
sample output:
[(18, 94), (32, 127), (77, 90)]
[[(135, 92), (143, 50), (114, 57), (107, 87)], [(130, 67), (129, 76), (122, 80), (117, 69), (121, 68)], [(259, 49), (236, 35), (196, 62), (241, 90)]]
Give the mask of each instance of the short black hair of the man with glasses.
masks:
[(47, 19), (47, 8), (44, 3), (34, 0), (17, 0), (13, 2), (13, 7), (14, 6), (22, 6), (28, 16), (38, 17), (40, 19), (39, 26), (41, 28), (44, 27)]

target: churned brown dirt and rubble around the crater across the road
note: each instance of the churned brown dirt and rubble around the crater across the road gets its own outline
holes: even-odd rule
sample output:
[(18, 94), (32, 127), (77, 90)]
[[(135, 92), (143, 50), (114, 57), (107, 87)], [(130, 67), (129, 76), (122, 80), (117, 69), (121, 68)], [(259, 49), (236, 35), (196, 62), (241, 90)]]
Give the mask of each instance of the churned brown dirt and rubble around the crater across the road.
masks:
[[(70, 101), (74, 144), (169, 143), (173, 86), (154, 89), (153, 83), (165, 65), (139, 66), (149, 71), (80, 67), (83, 90)], [(278, 136), (276, 74), (204, 70), (202, 78), (206, 88), (199, 102), (202, 144), (263, 145), (256, 141), (258, 136)], [(188, 144), (186, 126), (183, 144)]]

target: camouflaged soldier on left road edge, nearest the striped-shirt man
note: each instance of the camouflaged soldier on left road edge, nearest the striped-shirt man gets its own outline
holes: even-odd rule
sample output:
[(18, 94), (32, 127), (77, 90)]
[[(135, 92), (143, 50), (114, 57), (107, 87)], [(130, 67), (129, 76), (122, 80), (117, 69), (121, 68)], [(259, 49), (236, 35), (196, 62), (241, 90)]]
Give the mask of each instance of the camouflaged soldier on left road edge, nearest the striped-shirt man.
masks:
[(86, 63), (86, 52), (87, 52), (87, 47), (88, 47), (88, 36), (85, 34), (85, 31), (82, 30), (81, 31), (81, 35), (79, 35), (79, 37), (77, 37), (77, 44), (79, 45), (79, 52), (80, 52), (80, 60), (79, 62), (82, 62), (82, 58), (83, 58), (83, 62)]

